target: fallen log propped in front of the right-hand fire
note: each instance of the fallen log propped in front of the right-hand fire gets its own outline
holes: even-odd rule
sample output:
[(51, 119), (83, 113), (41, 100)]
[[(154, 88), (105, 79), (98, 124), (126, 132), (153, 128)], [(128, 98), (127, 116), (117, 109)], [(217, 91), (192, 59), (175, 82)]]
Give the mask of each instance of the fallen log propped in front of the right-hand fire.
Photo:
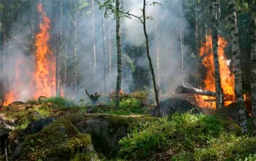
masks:
[(192, 93), (192, 94), (198, 94), (198, 95), (207, 95), (211, 97), (217, 97), (216, 92), (203, 90), (203, 89), (197, 89), (193, 87), (187, 87), (187, 86), (178, 86), (177, 87), (177, 93)]

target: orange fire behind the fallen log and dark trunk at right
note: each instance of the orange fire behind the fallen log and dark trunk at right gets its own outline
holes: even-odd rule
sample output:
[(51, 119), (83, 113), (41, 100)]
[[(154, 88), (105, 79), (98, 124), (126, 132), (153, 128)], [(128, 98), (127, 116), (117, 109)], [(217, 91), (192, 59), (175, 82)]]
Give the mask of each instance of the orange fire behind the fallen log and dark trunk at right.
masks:
[[(224, 37), (218, 36), (218, 54), (220, 63), (220, 74), (221, 74), (221, 87), (224, 92), (224, 104), (229, 105), (236, 101), (235, 97), (235, 80), (234, 75), (231, 73), (229, 68), (229, 61), (225, 57), (224, 49), (227, 46), (227, 41)], [(215, 91), (215, 78), (214, 78), (214, 59), (212, 53), (212, 37), (211, 35), (206, 36), (206, 43), (201, 46), (199, 57), (202, 58), (202, 65), (206, 69), (206, 75), (204, 76), (204, 88), (205, 90)], [(214, 97), (195, 95), (195, 99), (198, 101), (201, 107), (212, 107), (215, 108)]]

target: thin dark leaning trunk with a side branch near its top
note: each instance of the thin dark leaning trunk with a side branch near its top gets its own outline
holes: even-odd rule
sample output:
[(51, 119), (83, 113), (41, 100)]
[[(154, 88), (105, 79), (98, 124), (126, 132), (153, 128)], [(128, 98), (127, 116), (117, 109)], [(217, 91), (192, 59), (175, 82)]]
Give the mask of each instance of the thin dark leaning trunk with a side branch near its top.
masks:
[(143, 11), (143, 30), (144, 30), (144, 35), (145, 35), (145, 39), (146, 39), (147, 57), (148, 57), (149, 67), (150, 67), (150, 71), (151, 71), (151, 75), (152, 75), (154, 94), (155, 94), (155, 99), (156, 99), (156, 102), (157, 102), (157, 116), (160, 117), (160, 115), (161, 115), (160, 114), (160, 104), (159, 104), (159, 100), (158, 100), (156, 79), (155, 79), (155, 75), (154, 75), (154, 68), (153, 68), (153, 65), (152, 65), (151, 57), (150, 57), (150, 54), (149, 54), (148, 34), (147, 34), (147, 29), (146, 29), (145, 10), (146, 10), (146, 0), (143, 0), (143, 10), (142, 10)]

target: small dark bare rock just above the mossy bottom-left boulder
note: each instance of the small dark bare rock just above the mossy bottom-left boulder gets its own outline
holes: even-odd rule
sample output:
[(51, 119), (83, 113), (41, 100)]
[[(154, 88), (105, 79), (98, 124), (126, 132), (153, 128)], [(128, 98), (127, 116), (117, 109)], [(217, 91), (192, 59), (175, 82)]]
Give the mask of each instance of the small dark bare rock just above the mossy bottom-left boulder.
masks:
[(55, 121), (55, 118), (41, 118), (35, 122), (30, 123), (26, 127), (26, 131), (32, 134), (40, 132), (44, 127), (49, 126), (52, 122)]

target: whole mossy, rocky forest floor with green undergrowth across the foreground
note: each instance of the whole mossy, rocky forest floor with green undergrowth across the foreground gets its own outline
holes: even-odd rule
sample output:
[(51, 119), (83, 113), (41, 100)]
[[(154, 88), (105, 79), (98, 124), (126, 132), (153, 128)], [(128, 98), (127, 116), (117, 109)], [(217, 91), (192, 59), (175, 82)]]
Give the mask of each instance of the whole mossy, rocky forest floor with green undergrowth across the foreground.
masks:
[[(0, 111), (0, 160), (255, 161), (256, 138), (241, 135), (230, 110), (150, 115), (145, 92), (114, 103), (55, 97), (14, 102)], [(111, 98), (111, 97), (110, 97)], [(231, 113), (231, 112), (230, 112)], [(251, 118), (248, 118), (249, 123)]]

